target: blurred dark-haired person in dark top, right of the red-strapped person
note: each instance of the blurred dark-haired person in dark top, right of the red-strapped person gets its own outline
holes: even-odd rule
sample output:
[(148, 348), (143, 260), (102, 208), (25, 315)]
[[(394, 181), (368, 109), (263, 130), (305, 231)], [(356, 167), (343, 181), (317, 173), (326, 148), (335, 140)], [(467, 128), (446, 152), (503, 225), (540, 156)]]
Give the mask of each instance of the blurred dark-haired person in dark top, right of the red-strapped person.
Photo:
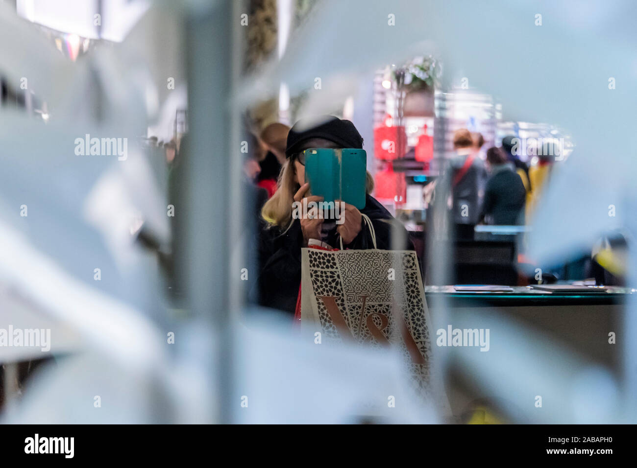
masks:
[(500, 148), (487, 150), (487, 164), (491, 174), (485, 189), (480, 221), (496, 225), (524, 223), (526, 188), (513, 163)]

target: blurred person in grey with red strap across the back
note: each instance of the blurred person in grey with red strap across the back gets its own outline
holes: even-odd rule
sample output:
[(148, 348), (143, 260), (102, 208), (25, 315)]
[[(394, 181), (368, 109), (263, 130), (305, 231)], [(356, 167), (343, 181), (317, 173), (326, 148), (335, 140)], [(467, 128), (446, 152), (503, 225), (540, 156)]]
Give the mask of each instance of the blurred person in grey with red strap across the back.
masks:
[(478, 223), (487, 173), (467, 129), (455, 131), (454, 151), (450, 174), (456, 237), (473, 239), (473, 227)]

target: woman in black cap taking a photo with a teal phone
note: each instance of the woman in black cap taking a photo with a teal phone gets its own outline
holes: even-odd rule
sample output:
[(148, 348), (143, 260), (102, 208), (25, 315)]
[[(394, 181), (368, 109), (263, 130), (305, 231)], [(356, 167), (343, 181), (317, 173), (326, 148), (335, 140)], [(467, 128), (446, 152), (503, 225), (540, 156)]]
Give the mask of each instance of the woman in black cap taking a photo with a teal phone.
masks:
[[(301, 120), (294, 124), (287, 137), (280, 181), (276, 193), (261, 210), (266, 227), (261, 230), (259, 242), (259, 303), (268, 308), (280, 309), (294, 314), (301, 284), (301, 248), (312, 239), (337, 246), (338, 237), (344, 248), (373, 248), (371, 232), (365, 225), (361, 213), (369, 216), (376, 232), (379, 249), (392, 248), (392, 216), (376, 199), (371, 197), (374, 183), (367, 173), (366, 204), (360, 211), (345, 204), (344, 222), (336, 225), (334, 220), (322, 219), (308, 213), (301, 219), (292, 217), (292, 204), (320, 201), (320, 197), (309, 194), (310, 184), (305, 179), (303, 150), (308, 148), (362, 148), (362, 137), (354, 124), (333, 116), (320, 120)], [(405, 239), (404, 249), (413, 250), (407, 232), (402, 225), (397, 227)]]

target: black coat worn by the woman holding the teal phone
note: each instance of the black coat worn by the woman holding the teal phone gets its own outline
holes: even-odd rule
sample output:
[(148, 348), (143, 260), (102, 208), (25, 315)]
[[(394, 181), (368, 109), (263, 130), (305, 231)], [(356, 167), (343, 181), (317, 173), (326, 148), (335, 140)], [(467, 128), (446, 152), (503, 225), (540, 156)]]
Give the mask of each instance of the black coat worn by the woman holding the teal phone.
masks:
[[(376, 246), (381, 250), (391, 248), (392, 215), (382, 204), (373, 197), (367, 195), (365, 208), (361, 213), (369, 216), (376, 232)], [(362, 227), (359, 235), (344, 248), (369, 249), (374, 248), (369, 234), (369, 229), (361, 220)], [(413, 250), (413, 245), (408, 239), (407, 232), (403, 230), (405, 250)], [(261, 230), (259, 240), (259, 304), (264, 307), (280, 309), (294, 313), (296, 299), (301, 283), (301, 248), (303, 246), (303, 232), (301, 221), (296, 219), (290, 229), (282, 232), (282, 229), (270, 227)], [(338, 248), (337, 245), (333, 245)]]

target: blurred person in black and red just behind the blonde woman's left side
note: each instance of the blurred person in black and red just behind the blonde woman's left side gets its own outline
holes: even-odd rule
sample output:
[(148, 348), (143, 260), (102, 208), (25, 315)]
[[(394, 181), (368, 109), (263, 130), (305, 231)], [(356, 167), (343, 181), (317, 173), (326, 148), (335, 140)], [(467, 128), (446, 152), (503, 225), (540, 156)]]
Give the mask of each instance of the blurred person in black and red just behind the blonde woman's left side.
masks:
[(289, 131), (290, 127), (276, 122), (269, 124), (261, 132), (260, 140), (266, 155), (259, 162), (261, 173), (257, 178), (257, 185), (268, 190), (268, 197), (276, 192), (278, 176), (285, 162), (285, 145)]

